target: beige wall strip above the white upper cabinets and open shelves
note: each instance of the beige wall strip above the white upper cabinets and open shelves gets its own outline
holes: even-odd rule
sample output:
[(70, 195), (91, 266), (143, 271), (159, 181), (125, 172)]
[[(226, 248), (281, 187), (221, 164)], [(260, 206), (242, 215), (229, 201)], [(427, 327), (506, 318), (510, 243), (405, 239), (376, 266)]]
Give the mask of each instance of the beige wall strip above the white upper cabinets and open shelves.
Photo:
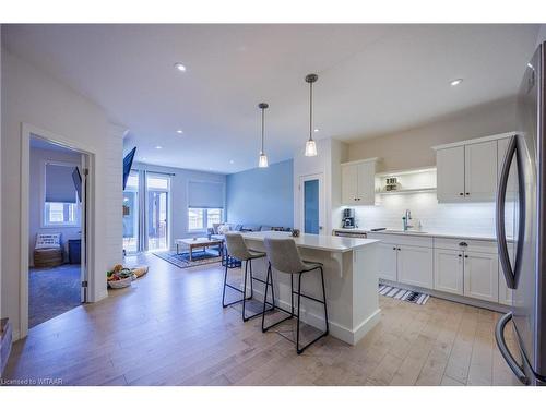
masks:
[(440, 118), (402, 132), (348, 143), (348, 160), (382, 158), (382, 170), (436, 166), (430, 148), (496, 133), (515, 131), (515, 99), (508, 98)]

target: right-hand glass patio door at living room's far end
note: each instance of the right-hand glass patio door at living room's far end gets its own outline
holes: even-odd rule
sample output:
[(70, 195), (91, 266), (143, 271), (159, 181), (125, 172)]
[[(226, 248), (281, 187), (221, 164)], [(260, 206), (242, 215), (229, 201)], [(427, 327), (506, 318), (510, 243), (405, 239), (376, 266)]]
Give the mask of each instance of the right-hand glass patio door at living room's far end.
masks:
[(170, 177), (146, 172), (146, 241), (149, 251), (169, 249)]

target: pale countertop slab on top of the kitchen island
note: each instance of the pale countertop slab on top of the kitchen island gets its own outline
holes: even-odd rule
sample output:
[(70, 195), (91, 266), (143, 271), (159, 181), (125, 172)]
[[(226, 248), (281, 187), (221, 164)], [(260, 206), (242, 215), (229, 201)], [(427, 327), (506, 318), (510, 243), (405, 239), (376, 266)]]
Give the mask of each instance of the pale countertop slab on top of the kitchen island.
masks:
[(292, 237), (292, 233), (285, 231), (253, 231), (244, 232), (246, 240), (264, 241), (265, 238), (287, 239), (292, 238), (298, 248), (322, 250), (331, 253), (345, 253), (361, 249), (366, 245), (377, 243), (379, 240), (358, 239), (336, 236), (307, 234)]

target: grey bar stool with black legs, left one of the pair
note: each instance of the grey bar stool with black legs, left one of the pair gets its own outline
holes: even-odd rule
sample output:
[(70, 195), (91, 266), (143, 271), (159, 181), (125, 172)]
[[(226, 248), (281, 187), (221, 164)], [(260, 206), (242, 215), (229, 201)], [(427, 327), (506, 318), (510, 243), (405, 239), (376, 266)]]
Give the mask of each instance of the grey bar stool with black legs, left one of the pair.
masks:
[[(244, 285), (242, 285), (242, 290), (240, 288), (234, 287), (229, 284), (227, 284), (227, 272), (228, 272), (228, 263), (226, 263), (226, 269), (224, 274), (224, 291), (222, 293), (222, 306), (226, 308), (233, 304), (236, 304), (238, 302), (242, 302), (242, 321), (246, 322), (250, 318), (253, 318), (254, 316), (261, 315), (262, 312), (256, 313), (251, 316), (246, 315), (246, 303), (247, 300), (251, 300), (252, 297), (254, 296), (254, 286), (253, 281), (260, 281), (265, 285), (265, 281), (257, 278), (252, 275), (252, 260), (256, 258), (261, 258), (265, 257), (265, 253), (263, 252), (258, 252), (253, 251), (247, 248), (247, 243), (245, 242), (245, 239), (240, 233), (226, 233), (225, 234), (225, 241), (226, 241), (226, 248), (227, 248), (227, 253), (229, 256), (239, 260), (240, 262), (245, 262), (245, 278), (244, 278)], [(250, 297), (247, 297), (247, 276), (250, 273)], [(233, 301), (228, 304), (226, 304), (226, 287), (232, 288), (235, 291), (238, 291), (242, 293), (242, 298), (237, 301)], [(273, 304), (268, 303), (273, 308)]]

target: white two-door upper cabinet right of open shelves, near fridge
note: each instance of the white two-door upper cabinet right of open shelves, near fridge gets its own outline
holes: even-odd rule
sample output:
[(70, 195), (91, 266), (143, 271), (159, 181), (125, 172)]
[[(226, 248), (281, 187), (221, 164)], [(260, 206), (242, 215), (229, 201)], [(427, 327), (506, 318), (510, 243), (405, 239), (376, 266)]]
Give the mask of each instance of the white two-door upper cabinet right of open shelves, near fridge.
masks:
[(436, 146), (438, 202), (494, 202), (499, 168), (513, 133)]

